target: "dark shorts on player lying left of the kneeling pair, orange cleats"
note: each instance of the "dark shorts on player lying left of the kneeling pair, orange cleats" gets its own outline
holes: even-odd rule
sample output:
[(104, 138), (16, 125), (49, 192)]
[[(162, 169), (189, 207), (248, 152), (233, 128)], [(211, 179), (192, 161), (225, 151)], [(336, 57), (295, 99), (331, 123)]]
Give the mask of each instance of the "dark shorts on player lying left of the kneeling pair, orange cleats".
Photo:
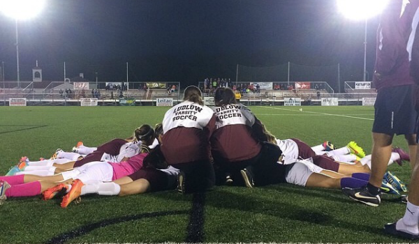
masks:
[(135, 171), (135, 173), (129, 175), (128, 177), (131, 178), (133, 181), (136, 181), (140, 178), (144, 178), (150, 183), (150, 188), (152, 192), (158, 192), (161, 190), (173, 190), (176, 188), (176, 185), (169, 185), (168, 177), (170, 176), (159, 169), (140, 169), (138, 171)]

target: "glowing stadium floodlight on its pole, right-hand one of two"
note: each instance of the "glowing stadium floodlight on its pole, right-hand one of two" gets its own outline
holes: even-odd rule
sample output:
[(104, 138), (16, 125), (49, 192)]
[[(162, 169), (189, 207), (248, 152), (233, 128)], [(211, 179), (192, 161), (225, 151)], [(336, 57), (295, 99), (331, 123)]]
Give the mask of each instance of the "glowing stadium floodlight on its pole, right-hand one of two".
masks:
[(365, 21), (364, 82), (367, 80), (367, 26), (368, 19), (383, 12), (389, 0), (337, 0), (340, 13), (351, 20)]

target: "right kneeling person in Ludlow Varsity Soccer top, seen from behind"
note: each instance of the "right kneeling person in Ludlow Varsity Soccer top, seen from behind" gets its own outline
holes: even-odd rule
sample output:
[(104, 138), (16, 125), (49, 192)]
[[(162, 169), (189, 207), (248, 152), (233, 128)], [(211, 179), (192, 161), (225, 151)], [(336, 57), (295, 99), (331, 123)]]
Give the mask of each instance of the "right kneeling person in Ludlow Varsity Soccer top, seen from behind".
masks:
[[(233, 182), (240, 182), (242, 178), (248, 188), (277, 183), (281, 177), (271, 181), (270, 173), (278, 165), (281, 150), (267, 142), (260, 121), (236, 101), (232, 89), (216, 89), (214, 102), (216, 130), (211, 137), (211, 146), (214, 165), (221, 169), (217, 178), (225, 180), (223, 172), (226, 172)], [(285, 168), (281, 172), (285, 174)]]

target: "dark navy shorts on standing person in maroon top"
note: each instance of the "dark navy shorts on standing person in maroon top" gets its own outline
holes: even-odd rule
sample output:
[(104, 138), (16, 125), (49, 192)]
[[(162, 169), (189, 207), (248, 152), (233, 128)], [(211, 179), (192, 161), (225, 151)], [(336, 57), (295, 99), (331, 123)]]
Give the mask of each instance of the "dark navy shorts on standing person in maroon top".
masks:
[(414, 85), (385, 87), (378, 90), (374, 104), (372, 132), (386, 135), (413, 135), (416, 133)]

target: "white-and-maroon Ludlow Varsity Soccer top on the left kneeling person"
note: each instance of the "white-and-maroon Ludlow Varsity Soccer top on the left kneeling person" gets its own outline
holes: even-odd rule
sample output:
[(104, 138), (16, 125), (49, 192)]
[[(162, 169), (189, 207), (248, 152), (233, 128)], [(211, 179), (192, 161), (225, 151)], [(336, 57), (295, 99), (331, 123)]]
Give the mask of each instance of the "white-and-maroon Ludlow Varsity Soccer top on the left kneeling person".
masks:
[(185, 101), (163, 119), (161, 152), (169, 165), (210, 160), (210, 137), (215, 128), (212, 109)]

